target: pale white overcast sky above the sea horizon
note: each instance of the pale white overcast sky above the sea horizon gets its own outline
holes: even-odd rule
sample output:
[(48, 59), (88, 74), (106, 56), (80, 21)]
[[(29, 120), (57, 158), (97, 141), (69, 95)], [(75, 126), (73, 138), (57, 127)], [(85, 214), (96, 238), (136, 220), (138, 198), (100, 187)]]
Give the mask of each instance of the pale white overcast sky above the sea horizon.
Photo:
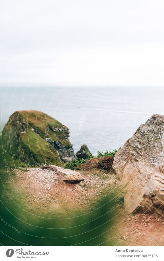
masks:
[(163, 0), (1, 0), (0, 81), (162, 85)]

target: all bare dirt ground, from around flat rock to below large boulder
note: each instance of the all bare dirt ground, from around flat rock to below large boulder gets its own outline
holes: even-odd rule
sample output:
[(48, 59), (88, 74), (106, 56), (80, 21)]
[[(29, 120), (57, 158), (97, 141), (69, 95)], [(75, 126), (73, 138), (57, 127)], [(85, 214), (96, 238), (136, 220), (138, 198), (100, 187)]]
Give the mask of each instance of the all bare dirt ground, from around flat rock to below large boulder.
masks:
[[(40, 168), (17, 170), (8, 187), (10, 197), (17, 195), (24, 208), (35, 216), (67, 216), (73, 211), (91, 211), (94, 204), (110, 193), (116, 200), (113, 208), (112, 228), (104, 234), (102, 245), (163, 245), (164, 220), (160, 216), (128, 215), (123, 208), (123, 197), (115, 175), (103, 171), (81, 172), (85, 180), (80, 184), (66, 184), (52, 171)], [(117, 193), (116, 193), (117, 191)], [(117, 242), (117, 243), (116, 243)]]

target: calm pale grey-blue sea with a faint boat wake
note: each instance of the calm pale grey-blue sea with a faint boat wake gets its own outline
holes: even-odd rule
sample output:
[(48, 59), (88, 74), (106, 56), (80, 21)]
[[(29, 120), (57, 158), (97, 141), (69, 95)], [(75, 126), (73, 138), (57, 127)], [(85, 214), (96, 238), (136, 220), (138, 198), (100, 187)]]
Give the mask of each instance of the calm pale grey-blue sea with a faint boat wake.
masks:
[(1, 126), (16, 110), (43, 111), (70, 129), (75, 152), (87, 144), (100, 150), (121, 147), (153, 113), (164, 114), (164, 88), (1, 87)]

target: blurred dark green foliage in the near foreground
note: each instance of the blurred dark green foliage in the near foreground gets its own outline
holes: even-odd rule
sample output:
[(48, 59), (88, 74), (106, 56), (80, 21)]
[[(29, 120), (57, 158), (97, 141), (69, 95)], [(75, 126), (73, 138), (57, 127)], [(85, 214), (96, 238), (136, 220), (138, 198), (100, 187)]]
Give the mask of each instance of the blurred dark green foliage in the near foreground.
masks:
[[(29, 203), (26, 194), (20, 193), (11, 187), (3, 187), (9, 179), (6, 172), (0, 171), (0, 242), (2, 245), (21, 246), (96, 246), (115, 245), (116, 240), (108, 237), (110, 229), (115, 226), (114, 217), (118, 215), (118, 209), (109, 212), (117, 204), (122, 202), (117, 197), (118, 191), (104, 191), (96, 196), (96, 200), (90, 201), (90, 211), (83, 208), (69, 209), (67, 215), (55, 211), (41, 214), (38, 206), (38, 215), (29, 211)], [(30, 204), (31, 206), (31, 204)], [(11, 227), (12, 226), (12, 227)], [(14, 228), (14, 229), (13, 229)], [(106, 241), (107, 240), (107, 241)]]

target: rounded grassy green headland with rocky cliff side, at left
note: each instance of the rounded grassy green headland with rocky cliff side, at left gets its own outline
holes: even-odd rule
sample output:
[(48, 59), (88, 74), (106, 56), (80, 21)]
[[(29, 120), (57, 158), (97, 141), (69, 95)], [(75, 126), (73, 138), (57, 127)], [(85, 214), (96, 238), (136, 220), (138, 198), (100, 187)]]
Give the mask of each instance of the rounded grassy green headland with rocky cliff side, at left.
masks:
[(63, 165), (75, 159), (69, 129), (45, 113), (14, 112), (2, 131), (2, 147), (14, 160), (30, 164)]

